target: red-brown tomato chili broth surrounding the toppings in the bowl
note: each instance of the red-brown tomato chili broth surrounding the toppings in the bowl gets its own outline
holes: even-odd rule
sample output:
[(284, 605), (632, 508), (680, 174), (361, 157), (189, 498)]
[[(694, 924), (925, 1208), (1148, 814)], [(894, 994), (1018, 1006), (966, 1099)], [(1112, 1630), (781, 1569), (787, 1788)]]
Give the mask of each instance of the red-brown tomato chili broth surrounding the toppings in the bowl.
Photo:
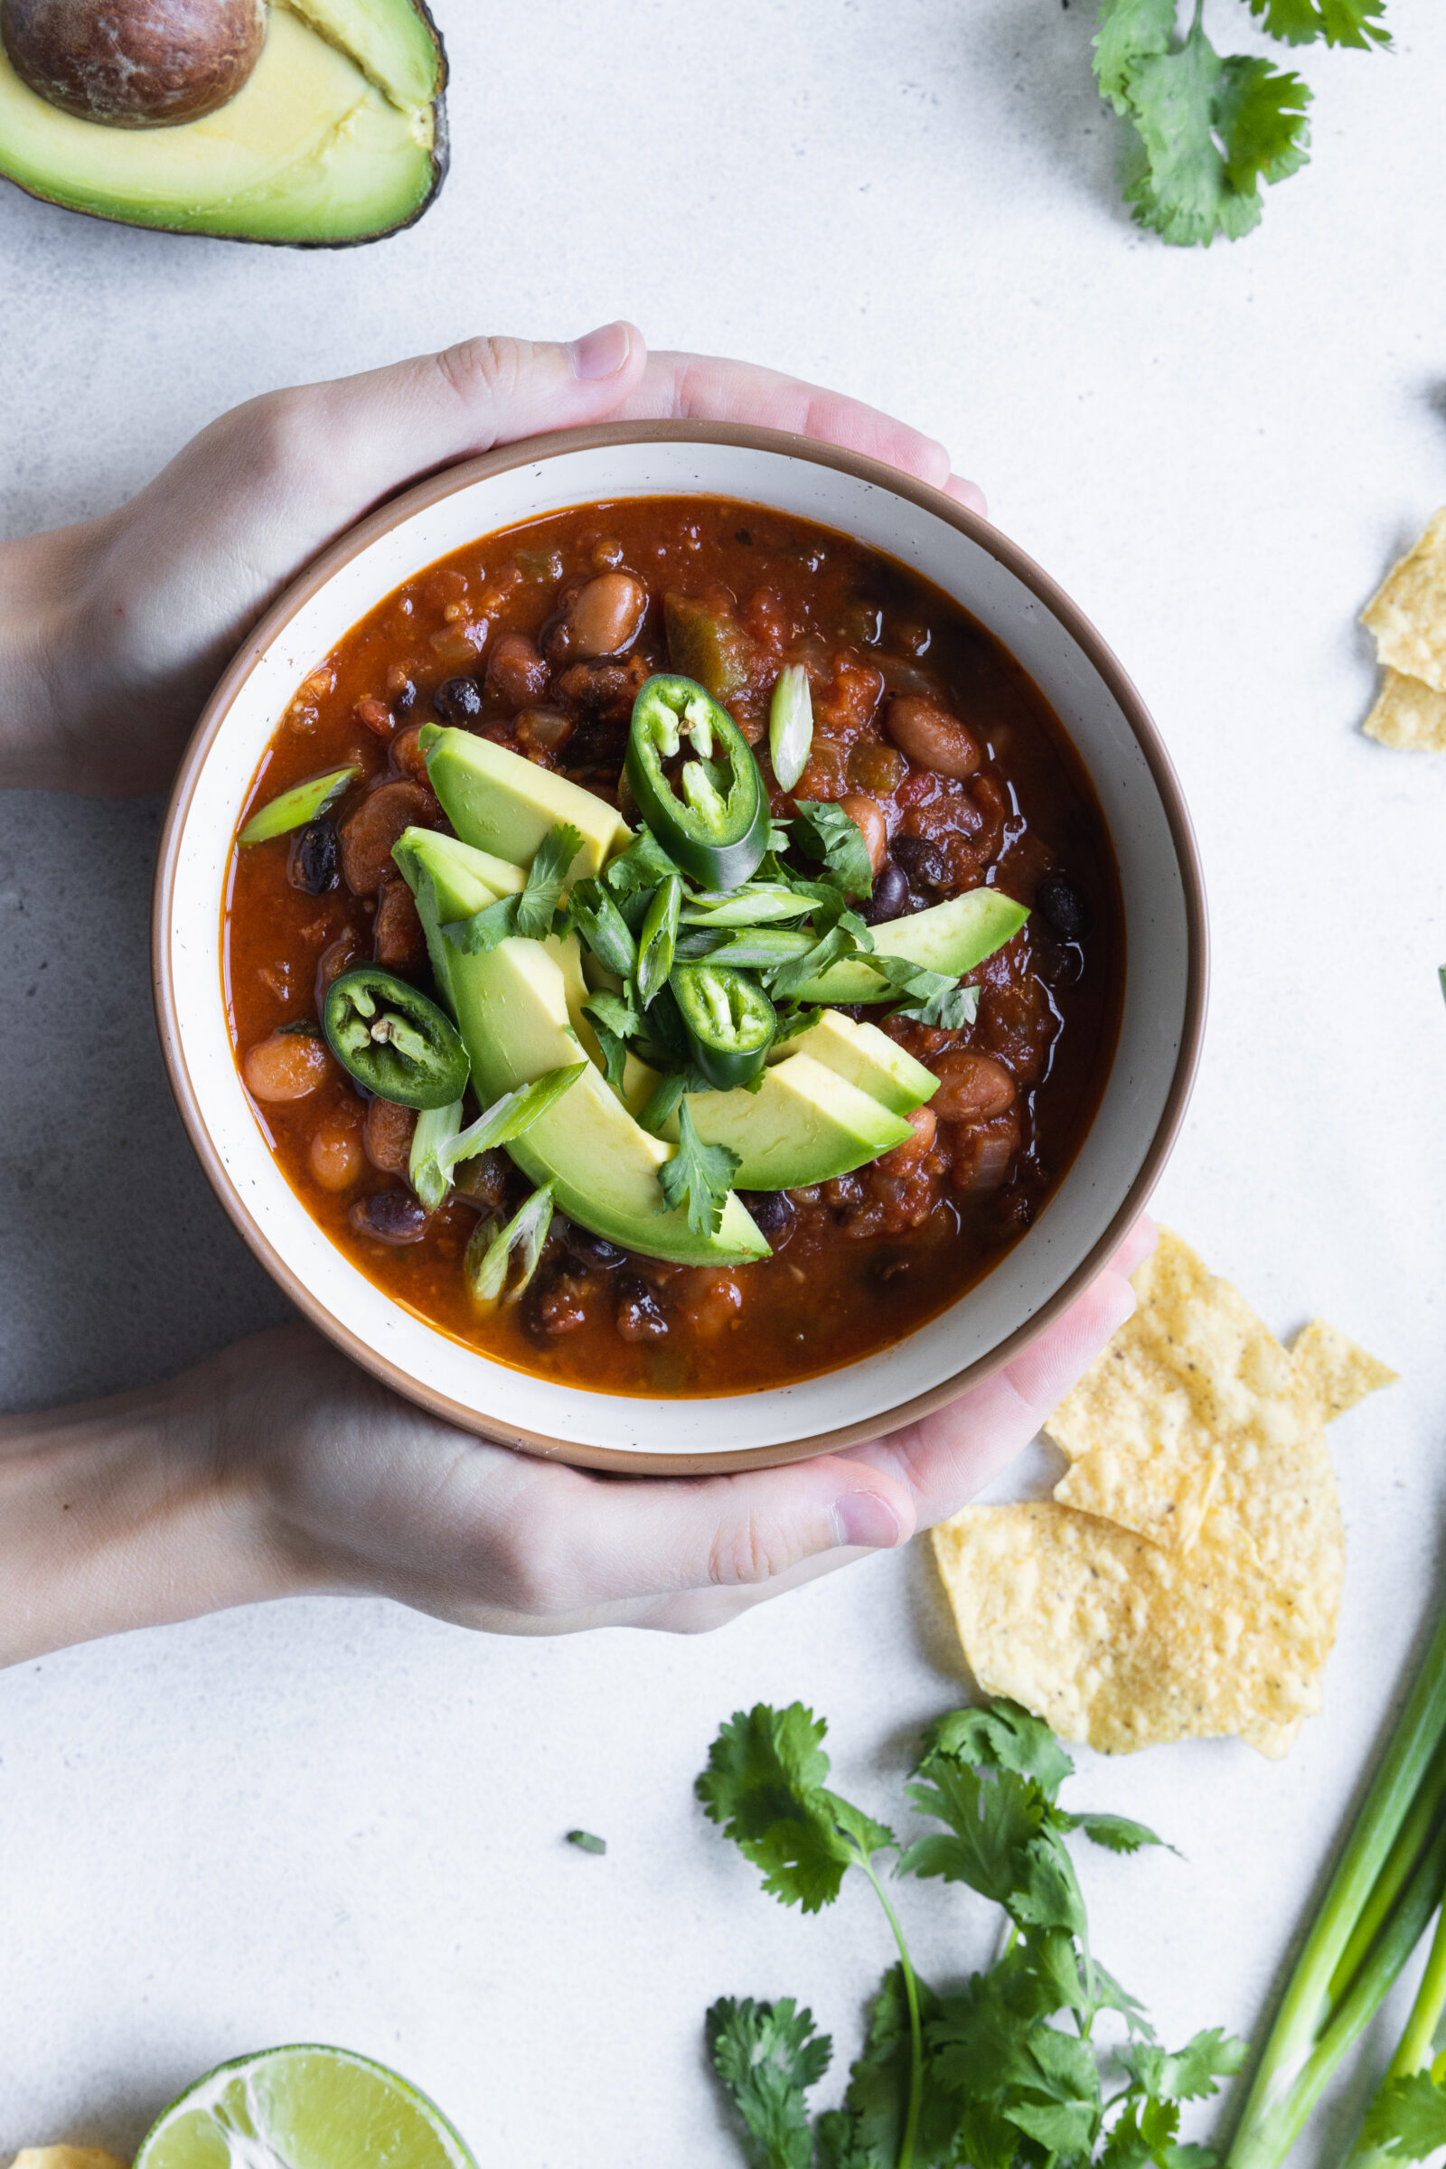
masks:
[[(559, 592), (611, 566), (648, 586), (631, 677), (627, 659), (561, 659), (538, 698), (527, 692), (538, 670), (512, 668), (514, 642), (509, 666), (499, 670), (507, 692), (483, 685), (481, 711), (468, 727), (616, 803), (627, 714), (646, 670), (668, 668), (661, 596), (676, 588), (724, 609), (748, 633), (750, 677), (726, 705), (754, 740), (776, 811), (787, 813), (767, 763), (765, 718), (778, 668), (802, 659), (813, 679), (815, 740), (796, 796), (874, 796), (891, 855), (902, 852), (915, 868), (915, 909), (984, 878), (1034, 904), (1045, 872), (1067, 876), (1084, 902), (1080, 941), (1062, 939), (1034, 911), (1004, 950), (969, 974), (982, 989), (973, 1026), (887, 1026), (921, 1061), (945, 1074), (963, 1069), (963, 1091), (958, 1080), (952, 1093), (941, 1089), (950, 1106), (967, 1106), (971, 1095), (991, 1104), (989, 1093), (980, 1100), (980, 1065), (960, 1065), (960, 1050), (986, 1054), (995, 1071), (1004, 1067), (1015, 1104), (982, 1121), (939, 1121), (932, 1150), (913, 1154), (913, 1167), (895, 1165), (911, 1156), (900, 1147), (817, 1193), (796, 1193), (791, 1228), (770, 1260), (713, 1271), (629, 1258), (616, 1271), (585, 1271), (553, 1238), (529, 1297), (490, 1312), (462, 1275), (475, 1206), (453, 1195), (425, 1236), (405, 1247), (353, 1225), (353, 1206), (405, 1178), (358, 1154), (366, 1104), (336, 1061), (327, 1056), (317, 1089), (256, 1113), (286, 1182), (338, 1249), (455, 1340), (514, 1369), (605, 1392), (759, 1390), (898, 1343), (989, 1273), (1049, 1199), (1090, 1126), (1114, 1052), (1123, 996), (1119, 876), (1103, 813), (1062, 724), (984, 627), (932, 583), (845, 536), (720, 499), (574, 508), (479, 538), (405, 581), (304, 679), (236, 826), (293, 783), (351, 763), (362, 777), (332, 809), (345, 829), (369, 792), (418, 777), (405, 733), (431, 720), (438, 685), (457, 675), (483, 683), (503, 633), (533, 642), (546, 636)], [(882, 701), (880, 666), (893, 681)], [(932, 694), (973, 733), (982, 766), (969, 781), (939, 777), (893, 746), (882, 729), (893, 690)], [(518, 735), (518, 714), (533, 711), (542, 718), (535, 731)], [(557, 724), (559, 714), (570, 729)], [(627, 794), (622, 809), (631, 811)], [(436, 800), (429, 818), (447, 826)], [(321, 896), (299, 891), (288, 878), (293, 850), (293, 839), (280, 837), (236, 852), (223, 978), (238, 1065), (277, 1026), (319, 1013), (323, 957), (330, 967), (371, 959), (379, 911), (397, 915), (390, 883), (382, 907), (353, 896), (345, 878)], [(431, 987), (425, 963), (403, 965), (395, 952), (384, 961)], [(858, 1015), (878, 1024), (882, 1006)], [(334, 1180), (351, 1171), (351, 1180), (327, 1189), (319, 1167)], [(496, 1169), (492, 1176), (494, 1199), (505, 1191), (499, 1208), (512, 1210), (527, 1182), (516, 1171), (505, 1182)]]

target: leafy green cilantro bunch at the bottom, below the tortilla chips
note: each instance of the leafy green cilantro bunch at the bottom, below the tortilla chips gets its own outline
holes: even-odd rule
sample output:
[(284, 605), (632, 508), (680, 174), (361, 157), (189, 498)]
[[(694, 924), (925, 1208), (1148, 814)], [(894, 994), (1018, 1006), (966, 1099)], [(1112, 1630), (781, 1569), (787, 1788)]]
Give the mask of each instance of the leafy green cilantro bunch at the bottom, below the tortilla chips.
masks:
[[(1179, 2104), (1216, 2093), (1244, 2045), (1218, 2028), (1162, 2048), (1140, 2004), (1095, 1959), (1067, 1839), (1114, 1852), (1160, 1839), (1125, 1815), (1069, 1813), (1071, 1761), (1012, 1703), (960, 1709), (924, 1737), (906, 1787), (939, 1828), (900, 1848), (893, 1831), (830, 1789), (826, 1727), (793, 1703), (759, 1703), (722, 1727), (698, 1779), (707, 1815), (804, 1913), (858, 1870), (889, 1920), (898, 1963), (869, 2011), (843, 2106), (809, 2126), (809, 2089), (830, 2043), (791, 2000), (724, 1998), (707, 2017), (713, 2067), (754, 2169), (1212, 2169), (1179, 2145)], [(999, 1904), (1008, 1943), (963, 1987), (919, 1980), (880, 1859), (895, 1876), (963, 1883)], [(1095, 2037), (1114, 2019), (1112, 2045)], [(1123, 2035), (1123, 2039), (1121, 2039)], [(1422, 2119), (1422, 2130), (1429, 2119)]]

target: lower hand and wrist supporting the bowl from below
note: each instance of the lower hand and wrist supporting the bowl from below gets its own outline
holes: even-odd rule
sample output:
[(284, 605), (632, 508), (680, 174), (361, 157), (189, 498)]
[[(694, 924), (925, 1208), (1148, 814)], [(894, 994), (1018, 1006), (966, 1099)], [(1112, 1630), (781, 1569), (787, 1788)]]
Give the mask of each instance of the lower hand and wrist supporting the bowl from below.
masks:
[(867, 1447), (733, 1477), (596, 1477), (423, 1416), (304, 1325), (150, 1395), (0, 1425), (0, 1661), (306, 1592), (492, 1633), (720, 1627), (954, 1514), (1134, 1310), (1140, 1221), (1008, 1369)]

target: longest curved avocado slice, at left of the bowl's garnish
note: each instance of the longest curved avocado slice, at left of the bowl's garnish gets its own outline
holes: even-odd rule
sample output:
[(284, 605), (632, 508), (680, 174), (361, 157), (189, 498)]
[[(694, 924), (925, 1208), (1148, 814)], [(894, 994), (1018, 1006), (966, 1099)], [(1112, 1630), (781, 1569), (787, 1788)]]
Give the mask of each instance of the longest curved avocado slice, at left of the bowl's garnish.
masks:
[[(501, 941), (486, 957), (451, 948), (440, 926), (486, 900), (486, 885), (457, 857), (451, 837), (408, 829), (397, 863), (414, 885), (416, 909), (438, 987), (447, 996), (473, 1063), (477, 1095), (488, 1102), (583, 1052), (572, 1026), (568, 985), (583, 989), (577, 935), (564, 941)], [(642, 1130), (603, 1071), (590, 1065), (577, 1084), (507, 1152), (533, 1182), (553, 1182), (559, 1208), (579, 1225), (624, 1249), (676, 1265), (744, 1265), (770, 1245), (737, 1197), (728, 1197), (715, 1236), (696, 1234), (687, 1215), (659, 1210), (657, 1171), (672, 1145)]]

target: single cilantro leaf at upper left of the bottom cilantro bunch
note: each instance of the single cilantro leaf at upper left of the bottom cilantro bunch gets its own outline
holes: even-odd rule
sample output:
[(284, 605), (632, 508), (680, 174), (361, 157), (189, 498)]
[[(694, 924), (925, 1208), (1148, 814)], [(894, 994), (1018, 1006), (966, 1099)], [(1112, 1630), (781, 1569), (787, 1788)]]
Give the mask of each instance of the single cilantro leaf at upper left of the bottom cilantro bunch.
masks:
[(832, 1904), (845, 1872), (895, 1841), (882, 1822), (824, 1787), (826, 1729), (802, 1703), (739, 1709), (718, 1733), (698, 1779), (705, 1813), (763, 1870), (763, 1889), (804, 1913)]

